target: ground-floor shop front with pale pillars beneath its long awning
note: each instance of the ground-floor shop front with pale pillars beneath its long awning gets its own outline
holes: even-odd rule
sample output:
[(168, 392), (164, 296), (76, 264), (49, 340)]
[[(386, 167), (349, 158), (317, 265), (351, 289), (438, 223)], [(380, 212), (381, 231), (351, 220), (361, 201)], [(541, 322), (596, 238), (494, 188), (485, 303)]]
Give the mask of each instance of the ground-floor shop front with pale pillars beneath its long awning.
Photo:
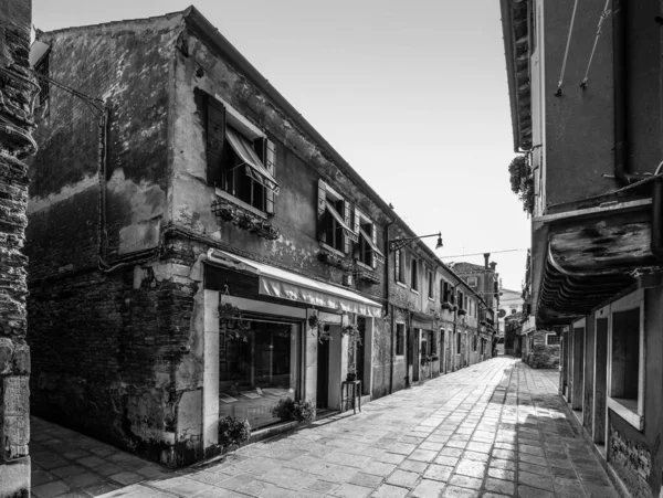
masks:
[[(341, 333), (348, 324), (361, 325), (357, 370), (370, 383), (364, 358), (372, 353), (378, 303), (220, 250), (204, 259), (203, 299), (204, 449), (217, 444), (220, 417), (249, 421), (252, 431), (277, 424), (272, 410), (282, 399), (337, 410), (348, 372)], [(332, 340), (322, 338), (323, 329)]]

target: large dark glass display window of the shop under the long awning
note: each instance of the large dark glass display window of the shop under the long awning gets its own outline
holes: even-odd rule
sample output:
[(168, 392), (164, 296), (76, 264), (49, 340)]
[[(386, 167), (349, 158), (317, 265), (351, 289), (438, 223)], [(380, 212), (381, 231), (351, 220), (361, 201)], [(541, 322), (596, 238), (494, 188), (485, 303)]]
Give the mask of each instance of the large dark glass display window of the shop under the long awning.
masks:
[(220, 330), (219, 414), (252, 428), (276, 422), (272, 409), (299, 394), (299, 326), (244, 321), (249, 330)]

